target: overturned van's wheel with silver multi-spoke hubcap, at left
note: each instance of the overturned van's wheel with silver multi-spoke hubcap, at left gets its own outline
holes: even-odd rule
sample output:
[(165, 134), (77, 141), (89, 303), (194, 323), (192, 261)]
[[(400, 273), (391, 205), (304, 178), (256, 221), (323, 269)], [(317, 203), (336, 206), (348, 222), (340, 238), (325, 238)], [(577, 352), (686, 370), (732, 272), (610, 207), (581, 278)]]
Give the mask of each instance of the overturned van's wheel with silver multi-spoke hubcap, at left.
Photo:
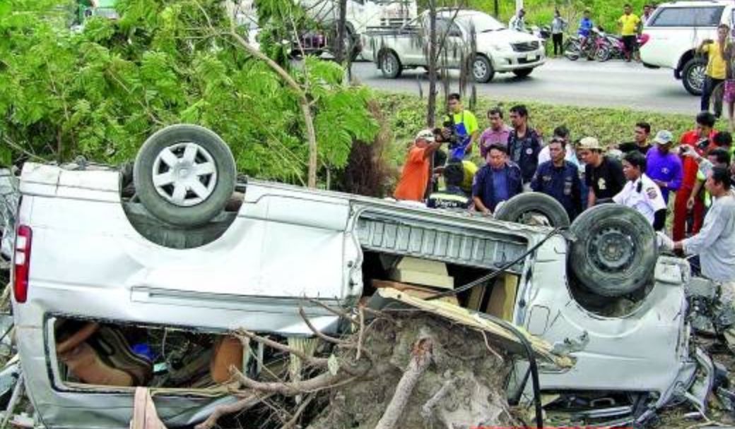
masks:
[(234, 191), (234, 158), (220, 136), (197, 125), (170, 125), (140, 147), (133, 167), (140, 202), (168, 224), (206, 224)]

